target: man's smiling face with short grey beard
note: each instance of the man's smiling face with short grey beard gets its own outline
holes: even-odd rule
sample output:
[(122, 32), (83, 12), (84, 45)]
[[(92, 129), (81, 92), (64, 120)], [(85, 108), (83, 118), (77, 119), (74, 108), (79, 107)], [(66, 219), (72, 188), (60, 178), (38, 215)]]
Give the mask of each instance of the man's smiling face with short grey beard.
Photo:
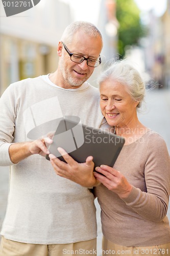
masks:
[[(94, 68), (87, 66), (86, 60), (82, 63), (71, 61), (62, 42), (60, 42), (59, 47), (61, 48), (59, 69), (60, 78), (63, 82), (62, 87), (67, 89), (78, 88), (91, 76)], [(89, 37), (84, 32), (78, 31), (72, 38), (72, 42), (66, 44), (66, 47), (71, 53), (80, 54), (86, 58), (98, 59), (102, 50), (102, 40), (100, 36)]]

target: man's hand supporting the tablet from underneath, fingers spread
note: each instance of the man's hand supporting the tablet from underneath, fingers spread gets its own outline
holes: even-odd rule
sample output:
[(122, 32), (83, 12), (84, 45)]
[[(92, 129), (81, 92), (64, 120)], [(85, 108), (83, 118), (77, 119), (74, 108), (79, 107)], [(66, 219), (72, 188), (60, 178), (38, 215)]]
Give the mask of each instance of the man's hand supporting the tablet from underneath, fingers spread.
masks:
[(63, 148), (58, 147), (57, 149), (66, 161), (65, 163), (54, 155), (49, 155), (57, 175), (74, 181), (84, 187), (93, 187), (99, 184), (99, 181), (97, 181), (93, 175), (94, 163), (92, 156), (87, 157), (85, 163), (78, 163), (70, 157)]

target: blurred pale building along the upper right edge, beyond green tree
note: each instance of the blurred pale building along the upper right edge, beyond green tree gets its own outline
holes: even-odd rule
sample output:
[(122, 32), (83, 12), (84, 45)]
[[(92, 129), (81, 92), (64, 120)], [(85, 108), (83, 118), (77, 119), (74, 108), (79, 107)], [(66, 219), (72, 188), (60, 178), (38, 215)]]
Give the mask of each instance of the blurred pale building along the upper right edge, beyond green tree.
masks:
[(170, 0), (161, 17), (149, 13), (148, 37), (142, 39), (145, 65), (154, 83), (170, 88)]

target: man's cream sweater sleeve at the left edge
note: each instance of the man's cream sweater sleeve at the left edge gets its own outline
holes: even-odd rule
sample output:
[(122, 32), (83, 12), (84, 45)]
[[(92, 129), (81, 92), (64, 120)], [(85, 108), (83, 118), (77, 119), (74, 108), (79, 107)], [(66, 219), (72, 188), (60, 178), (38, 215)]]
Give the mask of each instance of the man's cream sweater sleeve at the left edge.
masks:
[(16, 118), (13, 86), (9, 86), (0, 98), (0, 165), (14, 164), (9, 156), (9, 147), (13, 142)]

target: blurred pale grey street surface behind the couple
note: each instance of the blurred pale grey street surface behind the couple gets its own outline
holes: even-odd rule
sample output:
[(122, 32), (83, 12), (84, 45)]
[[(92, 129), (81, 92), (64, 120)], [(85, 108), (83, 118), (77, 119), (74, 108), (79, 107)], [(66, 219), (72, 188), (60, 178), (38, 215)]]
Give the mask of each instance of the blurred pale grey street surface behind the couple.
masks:
[[(170, 90), (154, 89), (147, 93), (145, 101), (145, 109), (143, 109), (142, 113), (138, 114), (139, 120), (164, 138), (170, 154)], [(0, 228), (6, 211), (8, 182), (8, 167), (0, 167)], [(96, 209), (98, 218), (98, 256), (101, 256), (102, 231), (100, 207), (97, 202)], [(170, 221), (170, 206), (168, 208), (168, 218)]]

